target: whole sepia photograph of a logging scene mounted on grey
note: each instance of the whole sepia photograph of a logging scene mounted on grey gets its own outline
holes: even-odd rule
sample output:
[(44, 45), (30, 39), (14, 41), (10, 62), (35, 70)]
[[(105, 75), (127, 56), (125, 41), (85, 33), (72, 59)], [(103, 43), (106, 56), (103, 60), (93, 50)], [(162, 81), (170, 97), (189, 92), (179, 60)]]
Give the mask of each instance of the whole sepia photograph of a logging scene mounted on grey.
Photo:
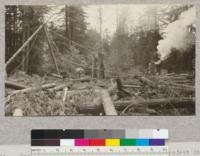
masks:
[(195, 115), (193, 4), (5, 6), (6, 116)]

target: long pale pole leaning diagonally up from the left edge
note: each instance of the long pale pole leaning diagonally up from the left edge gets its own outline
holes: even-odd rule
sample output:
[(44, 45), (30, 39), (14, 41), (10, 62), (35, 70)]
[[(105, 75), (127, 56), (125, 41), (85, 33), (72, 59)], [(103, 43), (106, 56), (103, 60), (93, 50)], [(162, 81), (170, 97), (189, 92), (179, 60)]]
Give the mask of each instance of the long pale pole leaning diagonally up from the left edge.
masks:
[(34, 36), (43, 28), (44, 24), (41, 25), (27, 40), (24, 44), (15, 52), (15, 54), (6, 62), (6, 68), (9, 64), (22, 52), (22, 50), (28, 45), (28, 43), (34, 38)]

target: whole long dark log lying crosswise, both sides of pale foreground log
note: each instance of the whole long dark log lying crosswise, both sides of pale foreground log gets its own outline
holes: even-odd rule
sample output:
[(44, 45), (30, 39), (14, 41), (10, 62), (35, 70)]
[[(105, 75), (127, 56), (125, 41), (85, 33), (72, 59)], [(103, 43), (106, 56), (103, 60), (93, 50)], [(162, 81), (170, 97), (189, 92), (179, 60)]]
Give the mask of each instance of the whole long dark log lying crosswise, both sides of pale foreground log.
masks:
[[(174, 108), (194, 108), (195, 106), (195, 99), (194, 98), (162, 98), (162, 99), (149, 99), (149, 100), (127, 100), (127, 101), (115, 101), (114, 106), (116, 110), (123, 110), (128, 105), (133, 105), (133, 107), (149, 107), (149, 108), (160, 108), (165, 106), (167, 109), (171, 109), (172, 106)], [(81, 106), (81, 112), (101, 112), (101, 103), (94, 104), (87, 104)]]

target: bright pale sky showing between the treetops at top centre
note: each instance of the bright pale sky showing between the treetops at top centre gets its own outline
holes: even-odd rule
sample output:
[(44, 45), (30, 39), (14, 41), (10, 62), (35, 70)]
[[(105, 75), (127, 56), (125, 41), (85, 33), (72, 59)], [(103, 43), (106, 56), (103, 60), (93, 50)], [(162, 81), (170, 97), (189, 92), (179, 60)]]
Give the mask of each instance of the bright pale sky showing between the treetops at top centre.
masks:
[(128, 25), (131, 26), (138, 21), (139, 16), (143, 13), (145, 9), (144, 5), (88, 5), (83, 7), (86, 12), (86, 22), (88, 27), (95, 29), (99, 32), (99, 12), (98, 9), (102, 10), (102, 30), (106, 30), (112, 35), (117, 26), (117, 17), (120, 14), (125, 14), (128, 19)]

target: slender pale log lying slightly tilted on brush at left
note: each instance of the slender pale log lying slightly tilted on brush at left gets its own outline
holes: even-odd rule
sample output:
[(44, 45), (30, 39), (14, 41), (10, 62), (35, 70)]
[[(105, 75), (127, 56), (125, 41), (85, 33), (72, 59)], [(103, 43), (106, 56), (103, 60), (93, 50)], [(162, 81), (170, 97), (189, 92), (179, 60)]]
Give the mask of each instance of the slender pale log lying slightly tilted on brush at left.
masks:
[(31, 92), (31, 91), (37, 91), (37, 90), (40, 90), (40, 89), (48, 89), (48, 88), (52, 88), (52, 87), (55, 87), (55, 86), (56, 86), (55, 83), (48, 83), (48, 84), (44, 84), (42, 86), (29, 87), (29, 88), (26, 88), (26, 89), (17, 90), (17, 91), (12, 92), (12, 94), (27, 93), (27, 92)]

